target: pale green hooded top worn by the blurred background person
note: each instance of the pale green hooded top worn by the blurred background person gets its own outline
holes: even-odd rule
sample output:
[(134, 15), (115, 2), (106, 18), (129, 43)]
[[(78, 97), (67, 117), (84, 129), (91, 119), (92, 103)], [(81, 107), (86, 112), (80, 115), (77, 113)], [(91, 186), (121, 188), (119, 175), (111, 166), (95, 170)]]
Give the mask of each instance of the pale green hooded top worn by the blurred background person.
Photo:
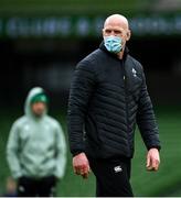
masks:
[(32, 98), (43, 92), (40, 87), (30, 90), (24, 106), (25, 114), (11, 128), (7, 158), (14, 178), (64, 176), (66, 144), (62, 128), (46, 111), (41, 118), (35, 118), (31, 110)]

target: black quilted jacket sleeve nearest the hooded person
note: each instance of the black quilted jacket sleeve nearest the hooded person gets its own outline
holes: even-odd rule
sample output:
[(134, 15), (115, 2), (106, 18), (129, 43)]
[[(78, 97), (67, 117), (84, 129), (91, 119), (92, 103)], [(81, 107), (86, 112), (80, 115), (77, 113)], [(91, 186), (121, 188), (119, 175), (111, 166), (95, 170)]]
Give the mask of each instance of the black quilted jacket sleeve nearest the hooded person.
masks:
[(84, 121), (95, 87), (95, 74), (89, 62), (81, 62), (74, 73), (68, 99), (68, 140), (73, 155), (84, 152)]

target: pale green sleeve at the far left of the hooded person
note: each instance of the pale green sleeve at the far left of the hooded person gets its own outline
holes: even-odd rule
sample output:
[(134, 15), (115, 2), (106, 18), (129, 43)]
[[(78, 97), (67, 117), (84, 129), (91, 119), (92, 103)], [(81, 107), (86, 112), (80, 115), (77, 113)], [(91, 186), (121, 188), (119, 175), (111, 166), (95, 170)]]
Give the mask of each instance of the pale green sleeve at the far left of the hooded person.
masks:
[(8, 144), (7, 144), (7, 161), (13, 178), (19, 178), (22, 176), (20, 158), (19, 158), (19, 128), (17, 122), (12, 125)]

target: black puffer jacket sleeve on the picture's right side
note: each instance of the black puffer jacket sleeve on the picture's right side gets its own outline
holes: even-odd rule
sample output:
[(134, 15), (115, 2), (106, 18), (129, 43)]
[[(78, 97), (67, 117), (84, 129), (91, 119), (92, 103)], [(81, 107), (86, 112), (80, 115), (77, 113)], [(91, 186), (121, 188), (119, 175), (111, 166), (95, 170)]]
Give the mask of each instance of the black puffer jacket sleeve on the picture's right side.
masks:
[(158, 125), (155, 118), (155, 112), (152, 108), (152, 102), (149, 97), (146, 77), (142, 72), (142, 85), (140, 91), (140, 98), (138, 103), (138, 113), (137, 113), (137, 124), (141, 133), (142, 140), (148, 150), (157, 147), (160, 150), (160, 140)]

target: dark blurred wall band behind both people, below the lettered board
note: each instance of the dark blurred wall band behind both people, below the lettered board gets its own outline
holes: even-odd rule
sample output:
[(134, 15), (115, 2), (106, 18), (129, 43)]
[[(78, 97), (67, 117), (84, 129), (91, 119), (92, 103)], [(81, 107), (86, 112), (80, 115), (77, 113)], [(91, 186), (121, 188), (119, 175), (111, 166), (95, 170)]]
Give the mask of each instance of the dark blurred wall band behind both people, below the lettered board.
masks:
[[(66, 105), (74, 67), (102, 38), (0, 41), (0, 103), (20, 105), (33, 86), (42, 86), (52, 103)], [(181, 40), (147, 38), (128, 43), (130, 54), (143, 65), (156, 103), (181, 101)]]

